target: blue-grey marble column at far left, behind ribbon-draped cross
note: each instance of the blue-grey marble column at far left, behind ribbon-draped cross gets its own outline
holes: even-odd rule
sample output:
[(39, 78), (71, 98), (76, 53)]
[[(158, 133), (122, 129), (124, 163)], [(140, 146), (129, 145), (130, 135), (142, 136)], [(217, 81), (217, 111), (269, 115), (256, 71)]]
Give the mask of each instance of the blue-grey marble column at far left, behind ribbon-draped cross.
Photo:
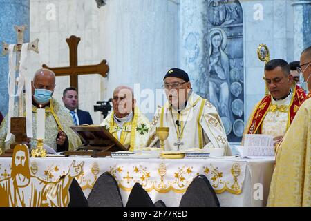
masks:
[[(29, 13), (29, 0), (0, 0), (0, 41), (5, 41), (7, 44), (16, 44), (17, 35), (14, 25), (21, 26), (25, 24), (27, 29), (24, 41), (28, 42)], [(8, 112), (8, 55), (0, 55), (0, 111), (3, 115)]]

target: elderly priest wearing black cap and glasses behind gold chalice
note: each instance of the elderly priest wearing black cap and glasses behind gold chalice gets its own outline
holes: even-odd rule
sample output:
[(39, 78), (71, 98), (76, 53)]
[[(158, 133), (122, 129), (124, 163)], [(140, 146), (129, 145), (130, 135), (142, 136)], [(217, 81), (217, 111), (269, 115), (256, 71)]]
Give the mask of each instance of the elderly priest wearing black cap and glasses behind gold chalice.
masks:
[(159, 144), (157, 127), (169, 127), (165, 151), (200, 148), (214, 156), (232, 155), (216, 108), (193, 92), (188, 74), (171, 68), (163, 81), (168, 102), (153, 117), (149, 146)]

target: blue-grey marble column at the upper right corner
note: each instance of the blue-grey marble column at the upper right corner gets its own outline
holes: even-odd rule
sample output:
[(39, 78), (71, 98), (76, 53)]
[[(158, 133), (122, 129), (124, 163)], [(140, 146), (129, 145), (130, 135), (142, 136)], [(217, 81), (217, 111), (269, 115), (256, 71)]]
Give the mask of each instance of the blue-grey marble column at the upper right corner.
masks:
[(294, 59), (311, 46), (311, 0), (294, 0)]

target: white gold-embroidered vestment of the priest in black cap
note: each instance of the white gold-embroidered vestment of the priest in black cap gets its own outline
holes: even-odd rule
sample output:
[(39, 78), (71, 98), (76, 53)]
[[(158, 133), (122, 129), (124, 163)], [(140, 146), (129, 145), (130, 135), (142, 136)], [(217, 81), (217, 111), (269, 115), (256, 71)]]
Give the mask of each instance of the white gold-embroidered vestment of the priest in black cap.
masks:
[[(179, 125), (176, 125), (178, 120)], [(189, 148), (204, 148), (211, 155), (231, 155), (223, 122), (216, 108), (206, 99), (191, 93), (187, 106), (180, 113), (167, 102), (158, 108), (153, 122), (149, 146), (158, 142), (156, 127), (169, 127), (169, 137), (164, 141), (165, 151), (187, 150)], [(180, 135), (180, 142), (178, 137)]]

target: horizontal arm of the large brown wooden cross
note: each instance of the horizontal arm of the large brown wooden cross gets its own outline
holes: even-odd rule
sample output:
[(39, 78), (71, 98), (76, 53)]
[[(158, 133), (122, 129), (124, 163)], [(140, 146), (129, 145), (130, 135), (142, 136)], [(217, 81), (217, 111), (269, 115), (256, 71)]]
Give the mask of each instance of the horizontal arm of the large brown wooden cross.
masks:
[(106, 77), (109, 72), (109, 66), (106, 64), (106, 60), (102, 60), (100, 64), (84, 65), (84, 66), (69, 66), (50, 68), (46, 64), (42, 65), (42, 68), (53, 70), (56, 76), (68, 76), (68, 75), (89, 75), (89, 74), (100, 74), (102, 77)]

